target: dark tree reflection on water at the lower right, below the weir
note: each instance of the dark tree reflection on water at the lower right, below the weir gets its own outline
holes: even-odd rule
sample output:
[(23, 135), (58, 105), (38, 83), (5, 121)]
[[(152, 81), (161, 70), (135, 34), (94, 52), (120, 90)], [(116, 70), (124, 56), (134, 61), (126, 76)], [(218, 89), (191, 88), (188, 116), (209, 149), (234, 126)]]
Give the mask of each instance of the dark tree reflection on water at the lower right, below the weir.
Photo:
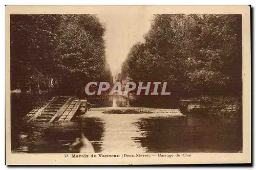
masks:
[(141, 118), (136, 138), (146, 152), (240, 152), (242, 124), (234, 118)]

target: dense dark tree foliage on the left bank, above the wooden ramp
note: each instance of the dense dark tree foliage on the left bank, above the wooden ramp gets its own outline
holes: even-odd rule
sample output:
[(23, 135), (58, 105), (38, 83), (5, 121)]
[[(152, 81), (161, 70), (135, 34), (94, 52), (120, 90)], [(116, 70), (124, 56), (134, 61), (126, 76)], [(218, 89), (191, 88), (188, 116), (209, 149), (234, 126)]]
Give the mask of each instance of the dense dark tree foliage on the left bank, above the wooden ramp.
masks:
[(95, 15), (11, 15), (10, 23), (11, 89), (39, 84), (73, 94), (87, 82), (112, 80)]

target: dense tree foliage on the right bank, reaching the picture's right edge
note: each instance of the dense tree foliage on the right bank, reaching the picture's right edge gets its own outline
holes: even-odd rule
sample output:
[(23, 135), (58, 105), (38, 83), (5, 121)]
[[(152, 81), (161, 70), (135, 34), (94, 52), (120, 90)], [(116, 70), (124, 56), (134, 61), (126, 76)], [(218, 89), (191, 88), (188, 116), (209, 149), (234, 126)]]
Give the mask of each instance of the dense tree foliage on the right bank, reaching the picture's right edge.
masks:
[(174, 98), (242, 96), (241, 15), (157, 14), (144, 40), (119, 80), (166, 81)]

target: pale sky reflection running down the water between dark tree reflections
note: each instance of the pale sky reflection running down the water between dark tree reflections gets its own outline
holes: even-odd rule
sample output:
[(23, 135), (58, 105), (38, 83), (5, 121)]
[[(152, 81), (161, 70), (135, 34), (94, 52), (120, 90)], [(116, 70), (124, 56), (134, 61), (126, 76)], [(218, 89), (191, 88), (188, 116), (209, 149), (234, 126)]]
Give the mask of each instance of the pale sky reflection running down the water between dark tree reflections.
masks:
[(103, 153), (141, 153), (144, 149), (134, 139), (141, 136), (133, 123), (145, 114), (102, 114), (102, 110), (91, 111), (86, 117), (100, 117), (104, 124), (102, 137)]

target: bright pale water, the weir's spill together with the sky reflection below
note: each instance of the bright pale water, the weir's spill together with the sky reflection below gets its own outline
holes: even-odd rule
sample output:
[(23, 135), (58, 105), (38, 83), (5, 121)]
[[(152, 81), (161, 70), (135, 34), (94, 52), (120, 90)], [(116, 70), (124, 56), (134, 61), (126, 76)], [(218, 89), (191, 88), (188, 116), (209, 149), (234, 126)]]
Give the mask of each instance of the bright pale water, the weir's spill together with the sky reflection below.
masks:
[[(102, 111), (111, 110), (112, 108), (93, 108), (83, 115), (83, 117), (97, 117), (103, 123), (104, 135), (102, 137), (102, 153), (142, 153), (146, 149), (142, 147), (141, 143), (135, 138), (142, 137), (148, 132), (145, 132), (136, 125), (141, 118), (161, 117), (168, 118), (173, 116), (182, 116), (178, 109), (147, 109), (140, 110), (154, 110), (156, 113), (141, 113), (141, 114), (104, 114)], [(118, 110), (135, 109), (117, 107)], [(159, 111), (175, 112), (175, 113), (159, 113)]]

